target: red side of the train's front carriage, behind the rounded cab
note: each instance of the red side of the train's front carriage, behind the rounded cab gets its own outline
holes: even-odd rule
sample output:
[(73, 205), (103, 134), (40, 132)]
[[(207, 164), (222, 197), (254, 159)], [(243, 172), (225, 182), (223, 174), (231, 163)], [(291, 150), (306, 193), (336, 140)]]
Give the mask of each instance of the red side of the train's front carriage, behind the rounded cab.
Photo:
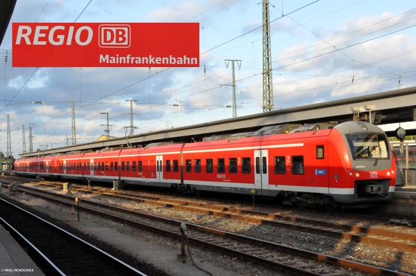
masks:
[(327, 194), (328, 134), (322, 130), (187, 144), (184, 184), (264, 196), (281, 191)]

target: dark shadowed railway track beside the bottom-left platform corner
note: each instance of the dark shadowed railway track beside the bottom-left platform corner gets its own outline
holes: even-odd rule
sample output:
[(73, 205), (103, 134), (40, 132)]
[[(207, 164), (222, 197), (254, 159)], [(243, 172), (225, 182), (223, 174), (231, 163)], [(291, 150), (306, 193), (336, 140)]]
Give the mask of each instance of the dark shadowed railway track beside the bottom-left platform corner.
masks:
[[(46, 275), (141, 275), (92, 244), (54, 226), (30, 212), (0, 199), (1, 224), (30, 248)], [(42, 259), (42, 261), (39, 261)]]

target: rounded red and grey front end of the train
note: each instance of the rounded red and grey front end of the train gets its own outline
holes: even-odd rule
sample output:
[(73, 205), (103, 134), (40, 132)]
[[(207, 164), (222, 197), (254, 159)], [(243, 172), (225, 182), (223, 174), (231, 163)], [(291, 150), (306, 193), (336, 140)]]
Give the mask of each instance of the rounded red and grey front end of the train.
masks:
[(333, 199), (345, 207), (369, 207), (392, 200), (396, 163), (384, 131), (367, 122), (344, 122), (333, 130), (329, 145), (336, 148), (338, 156), (331, 156), (330, 164), (336, 164), (338, 158), (342, 164), (330, 172)]

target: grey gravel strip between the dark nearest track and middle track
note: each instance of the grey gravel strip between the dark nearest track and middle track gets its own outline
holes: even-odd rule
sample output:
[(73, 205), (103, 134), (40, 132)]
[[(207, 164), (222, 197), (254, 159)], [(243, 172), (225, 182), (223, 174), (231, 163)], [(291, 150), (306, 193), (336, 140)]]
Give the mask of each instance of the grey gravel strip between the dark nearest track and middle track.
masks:
[[(209, 275), (196, 268), (196, 266), (215, 276), (286, 275), (276, 270), (270, 270), (219, 252), (212, 252), (206, 248), (196, 248), (192, 245), (191, 256), (196, 266), (192, 264), (190, 259), (183, 263), (177, 261), (177, 255), (180, 254), (180, 241), (175, 239), (160, 237), (146, 230), (132, 228), (83, 212), (80, 213), (80, 221), (78, 221), (78, 214), (73, 208), (57, 205), (28, 194), (16, 193), (10, 196), (5, 189), (1, 189), (0, 193), (1, 196), (24, 204), (36, 210), (39, 214), (51, 217), (58, 226), (72, 232), (78, 232), (78, 234), (83, 235), (83, 239), (89, 239), (90, 243), (98, 243), (99, 246), (101, 245), (100, 248), (105, 247), (107, 252), (119, 252), (124, 259), (135, 259), (136, 263), (139, 263), (135, 267), (148, 276)], [(155, 207), (153, 206), (153, 208)], [(110, 245), (111, 248), (105, 243)], [(188, 251), (187, 255), (189, 255)]]

